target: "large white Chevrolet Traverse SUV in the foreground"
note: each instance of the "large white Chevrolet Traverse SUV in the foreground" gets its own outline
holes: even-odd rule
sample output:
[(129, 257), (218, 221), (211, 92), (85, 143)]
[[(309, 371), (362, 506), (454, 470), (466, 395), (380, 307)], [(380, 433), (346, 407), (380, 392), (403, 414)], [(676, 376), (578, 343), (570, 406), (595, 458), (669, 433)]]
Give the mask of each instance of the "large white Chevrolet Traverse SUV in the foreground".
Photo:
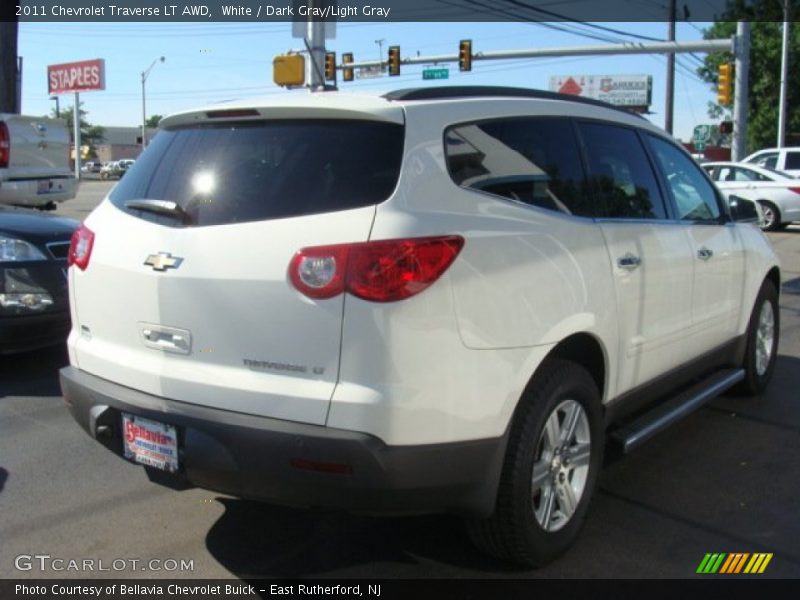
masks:
[(630, 449), (770, 379), (769, 242), (638, 116), (434, 88), (161, 127), (73, 238), (61, 372), (81, 426), (159, 483), (457, 513), (542, 564), (607, 433)]

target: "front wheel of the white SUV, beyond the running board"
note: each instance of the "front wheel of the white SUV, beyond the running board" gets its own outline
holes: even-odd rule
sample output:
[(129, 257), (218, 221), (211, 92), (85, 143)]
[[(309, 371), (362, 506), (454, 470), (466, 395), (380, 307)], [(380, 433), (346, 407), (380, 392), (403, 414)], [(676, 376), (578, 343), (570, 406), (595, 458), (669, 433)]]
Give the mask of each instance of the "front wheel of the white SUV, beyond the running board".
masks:
[(750, 323), (747, 326), (745, 349), (745, 378), (734, 388), (743, 396), (757, 396), (767, 387), (775, 370), (780, 333), (778, 291), (770, 280), (764, 281), (758, 292)]

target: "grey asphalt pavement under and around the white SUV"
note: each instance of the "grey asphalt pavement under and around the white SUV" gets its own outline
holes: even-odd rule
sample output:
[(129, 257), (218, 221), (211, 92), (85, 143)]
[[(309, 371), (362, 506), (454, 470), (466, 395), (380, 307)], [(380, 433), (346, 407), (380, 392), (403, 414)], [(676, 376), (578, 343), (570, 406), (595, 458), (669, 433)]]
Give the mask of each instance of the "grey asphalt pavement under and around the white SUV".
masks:
[[(113, 183), (86, 181), (59, 214), (84, 218)], [(604, 468), (565, 556), (528, 570), (487, 558), (450, 517), (303, 512), (147, 481), (91, 441), (61, 400), (63, 348), (0, 358), (0, 578), (685, 578), (708, 552), (766, 552), (759, 577), (800, 577), (800, 227), (783, 262), (775, 378), (712, 401)], [(20, 555), (193, 561), (193, 570), (19, 570)], [(164, 564), (163, 562), (161, 564)]]

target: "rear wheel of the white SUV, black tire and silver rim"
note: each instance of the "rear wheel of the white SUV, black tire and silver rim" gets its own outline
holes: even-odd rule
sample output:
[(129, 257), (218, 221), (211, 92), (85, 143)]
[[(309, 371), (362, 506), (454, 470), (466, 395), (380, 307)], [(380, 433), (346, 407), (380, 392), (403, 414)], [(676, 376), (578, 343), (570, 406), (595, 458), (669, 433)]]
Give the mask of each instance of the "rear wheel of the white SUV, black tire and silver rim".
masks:
[(579, 365), (548, 361), (511, 428), (494, 514), (467, 524), (482, 550), (544, 565), (576, 540), (602, 464), (600, 394)]

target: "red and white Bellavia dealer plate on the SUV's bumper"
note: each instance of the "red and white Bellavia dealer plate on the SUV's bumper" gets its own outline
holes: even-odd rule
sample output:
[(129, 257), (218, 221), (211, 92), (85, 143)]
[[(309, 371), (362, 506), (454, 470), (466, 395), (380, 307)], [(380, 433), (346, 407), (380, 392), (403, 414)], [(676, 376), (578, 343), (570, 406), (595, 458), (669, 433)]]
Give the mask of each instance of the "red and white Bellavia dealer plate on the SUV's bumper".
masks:
[(178, 435), (166, 423), (122, 413), (125, 458), (169, 473), (178, 470)]

